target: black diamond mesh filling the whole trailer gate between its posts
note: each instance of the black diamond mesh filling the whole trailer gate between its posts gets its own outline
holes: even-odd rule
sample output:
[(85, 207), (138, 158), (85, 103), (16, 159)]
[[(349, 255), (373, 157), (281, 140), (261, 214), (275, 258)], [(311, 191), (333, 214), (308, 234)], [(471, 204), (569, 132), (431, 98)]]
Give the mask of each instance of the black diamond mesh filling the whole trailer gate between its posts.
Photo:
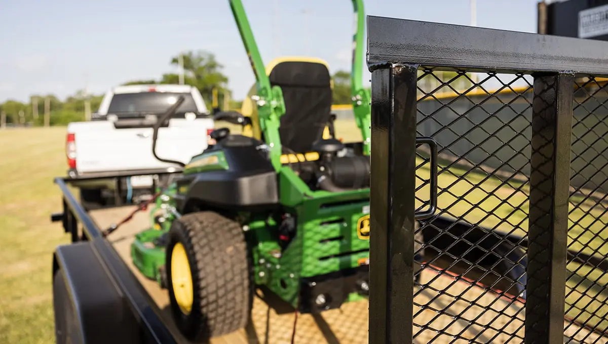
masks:
[[(537, 192), (532, 206), (550, 205), (545, 198), (554, 180), (542, 157), (553, 149), (554, 137), (542, 118), (535, 120), (533, 132), (532, 113), (554, 106), (555, 80), (420, 69), (417, 131), (437, 142), (439, 166), (438, 210), (420, 220), (416, 231), (421, 269), (415, 269), (414, 342), (522, 343), (533, 336), (534, 327), (524, 326), (526, 300), (549, 289), (539, 285), (527, 295), (526, 271), (528, 260), (547, 259), (549, 240), (545, 232), (528, 236), (529, 220), (547, 224), (545, 217), (530, 219), (530, 181), (535, 178), (547, 191)], [(576, 85), (564, 342), (604, 343), (608, 92), (606, 83), (593, 78), (577, 78)], [(424, 211), (430, 159), (424, 146), (417, 153), (416, 211)], [(527, 254), (528, 241), (536, 245), (533, 255)], [(550, 273), (534, 266), (528, 274)], [(533, 322), (550, 321), (542, 310), (537, 314)]]

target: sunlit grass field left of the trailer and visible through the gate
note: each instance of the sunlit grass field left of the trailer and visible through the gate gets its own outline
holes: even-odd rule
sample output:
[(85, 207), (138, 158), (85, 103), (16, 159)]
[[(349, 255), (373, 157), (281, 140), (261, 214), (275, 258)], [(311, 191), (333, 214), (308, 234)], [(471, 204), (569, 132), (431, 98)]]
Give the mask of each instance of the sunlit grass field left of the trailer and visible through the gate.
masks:
[[(361, 140), (351, 121), (338, 121), (336, 132), (347, 142)], [(64, 135), (64, 127), (0, 131), (0, 147), (4, 149), (0, 160), (0, 261), (3, 263), (0, 266), (0, 343), (54, 342), (52, 252), (56, 246), (67, 243), (69, 237), (60, 224), (50, 223), (50, 214), (61, 210), (60, 193), (52, 178), (66, 171)], [(438, 198), (440, 209), (449, 209), (450, 214), (464, 216), (472, 223), (482, 221), (489, 227), (500, 224), (499, 228), (506, 232), (527, 231), (527, 186), (522, 188), (523, 192), (500, 187), (502, 183), (497, 178), (480, 174), (467, 175), (469, 183), (458, 178), (465, 172), (451, 169), (440, 174), (440, 191), (449, 189)], [(426, 179), (429, 170), (422, 167), (417, 174)], [(423, 188), (419, 194), (424, 198), (428, 190)], [(464, 197), (466, 201), (457, 197)], [(479, 205), (472, 207), (470, 203)], [(595, 204), (581, 204), (578, 209), (571, 206), (571, 224), (578, 222), (570, 231), (576, 240), (568, 240), (573, 249), (587, 246), (587, 251), (596, 249), (599, 254), (608, 255), (608, 230), (601, 221), (593, 221), (594, 217), (601, 217), (603, 211), (603, 206)], [(508, 222), (503, 221), (505, 218)], [(573, 271), (578, 266), (568, 268)], [(584, 278), (586, 274), (589, 275)], [(579, 271), (570, 278), (568, 292), (580, 288), (575, 283), (592, 288), (593, 294), (583, 295), (577, 291), (570, 294), (567, 303), (575, 306), (571, 314), (604, 305), (608, 277), (584, 268), (584, 272)], [(596, 314), (590, 322), (608, 327), (603, 319), (606, 312), (608, 309), (603, 309), (602, 314)], [(592, 315), (588, 312), (585, 317)]]

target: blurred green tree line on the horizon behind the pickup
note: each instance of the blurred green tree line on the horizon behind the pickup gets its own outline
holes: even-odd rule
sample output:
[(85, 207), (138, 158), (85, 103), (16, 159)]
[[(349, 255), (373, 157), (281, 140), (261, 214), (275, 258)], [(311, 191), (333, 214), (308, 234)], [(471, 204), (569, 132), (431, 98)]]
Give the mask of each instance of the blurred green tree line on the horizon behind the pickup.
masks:
[[(170, 64), (179, 66), (179, 59), (179, 55), (173, 56)], [(224, 66), (217, 61), (213, 53), (204, 50), (189, 51), (183, 53), (181, 59), (184, 66), (184, 84), (195, 86), (201, 92), (209, 109), (215, 102), (228, 103), (231, 109), (238, 109), (241, 106), (241, 101), (232, 99), (232, 92), (228, 88), (229, 79), (223, 73)], [(178, 84), (179, 78), (177, 73), (164, 73), (160, 78), (131, 80), (123, 85)], [(350, 72), (338, 70), (332, 78), (333, 103), (350, 104)], [(103, 93), (88, 95), (84, 90), (78, 90), (63, 101), (52, 94), (32, 95), (27, 103), (9, 99), (0, 103), (0, 123), (4, 121), (13, 125), (57, 126), (84, 121), (86, 102), (89, 102), (90, 109), (94, 112), (98, 109), (102, 98)]]

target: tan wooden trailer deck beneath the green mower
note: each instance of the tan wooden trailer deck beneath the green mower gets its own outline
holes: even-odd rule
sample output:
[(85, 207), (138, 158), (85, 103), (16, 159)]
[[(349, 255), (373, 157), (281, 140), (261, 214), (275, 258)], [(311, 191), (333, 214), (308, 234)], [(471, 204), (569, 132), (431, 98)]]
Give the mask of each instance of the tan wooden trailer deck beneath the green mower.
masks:
[[(117, 207), (91, 211), (91, 217), (100, 226), (107, 228), (121, 220), (133, 206)], [(131, 268), (156, 305), (154, 309), (164, 319), (176, 339), (182, 339), (175, 328), (168, 309), (167, 290), (161, 289), (156, 282), (148, 280), (137, 271), (130, 258), (130, 245), (134, 235), (149, 226), (145, 212), (136, 214), (128, 223), (109, 235), (109, 240), (126, 264)], [(471, 286), (463, 281), (454, 281), (448, 275), (437, 277), (433, 271), (423, 271), (421, 282), (432, 282), (429, 288), (416, 290), (416, 305), (426, 305), (424, 309), (415, 306), (413, 328), (414, 343), (428, 343), (435, 338), (441, 343), (522, 343), (525, 309), (521, 303), (511, 303), (488, 293), (482, 288)], [(437, 291), (444, 291), (443, 294)], [(462, 294), (464, 292), (464, 294)], [(227, 336), (211, 340), (219, 343), (291, 343), (294, 329), (293, 312), (277, 312), (269, 306), (271, 302), (262, 300), (258, 291), (252, 310), (252, 323), (247, 328)], [(461, 295), (451, 297), (449, 295)], [(472, 302), (474, 301), (474, 302)], [(486, 306), (486, 307), (484, 307)], [(460, 316), (457, 316), (461, 314)], [(295, 343), (367, 343), (368, 342), (368, 302), (346, 303), (340, 309), (333, 309), (318, 315), (299, 314), (295, 329)], [(438, 334), (437, 329), (447, 334)], [(586, 329), (568, 326), (564, 343), (608, 343), (606, 339), (590, 333)], [(183, 342), (187, 342), (182, 339)]]

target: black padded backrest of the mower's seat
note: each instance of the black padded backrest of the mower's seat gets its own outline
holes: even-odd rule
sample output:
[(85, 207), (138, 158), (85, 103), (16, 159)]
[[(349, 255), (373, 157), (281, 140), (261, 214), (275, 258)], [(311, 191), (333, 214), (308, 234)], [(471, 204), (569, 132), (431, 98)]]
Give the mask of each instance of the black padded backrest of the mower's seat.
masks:
[(330, 118), (331, 75), (317, 61), (282, 61), (269, 73), (272, 86), (279, 86), (285, 101), (279, 135), (281, 144), (294, 152), (308, 152), (322, 138)]

